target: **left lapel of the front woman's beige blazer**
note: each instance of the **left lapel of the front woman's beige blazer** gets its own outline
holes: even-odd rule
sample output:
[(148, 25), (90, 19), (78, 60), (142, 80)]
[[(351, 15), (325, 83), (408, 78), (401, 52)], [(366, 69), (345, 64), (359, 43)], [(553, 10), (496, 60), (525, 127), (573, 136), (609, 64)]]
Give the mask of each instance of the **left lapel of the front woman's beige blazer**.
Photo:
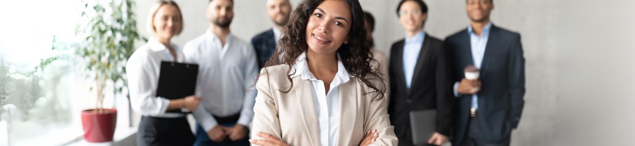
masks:
[(311, 81), (302, 80), (300, 76), (293, 78), (293, 88), (295, 88), (295, 95), (298, 98), (298, 104), (300, 104), (300, 113), (302, 113), (302, 120), (304, 120), (304, 127), (307, 131), (309, 141), (311, 145), (319, 145), (319, 123), (318, 112), (316, 112), (316, 106), (313, 101), (313, 92), (311, 89)]

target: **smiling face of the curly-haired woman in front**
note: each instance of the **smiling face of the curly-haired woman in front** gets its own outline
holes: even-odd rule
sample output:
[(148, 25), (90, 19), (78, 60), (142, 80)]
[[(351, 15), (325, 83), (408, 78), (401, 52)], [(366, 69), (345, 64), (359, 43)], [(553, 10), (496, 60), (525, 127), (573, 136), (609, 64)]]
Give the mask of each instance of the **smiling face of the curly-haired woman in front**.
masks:
[(348, 39), (351, 24), (351, 8), (346, 1), (323, 1), (307, 23), (305, 38), (309, 49), (319, 54), (336, 52)]

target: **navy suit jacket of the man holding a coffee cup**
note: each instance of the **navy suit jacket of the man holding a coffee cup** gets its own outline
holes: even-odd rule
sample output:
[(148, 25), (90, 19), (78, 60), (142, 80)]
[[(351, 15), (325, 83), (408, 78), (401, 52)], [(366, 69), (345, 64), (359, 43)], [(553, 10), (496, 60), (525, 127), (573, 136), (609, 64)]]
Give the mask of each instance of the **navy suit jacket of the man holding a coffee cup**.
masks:
[[(453, 82), (465, 77), (464, 68), (474, 64), (467, 29), (445, 39), (451, 51)], [(478, 120), (485, 140), (498, 143), (509, 138), (518, 126), (525, 101), (525, 58), (520, 34), (491, 26), (481, 63), (481, 91), (478, 92)], [(468, 127), (472, 95), (457, 101), (457, 121), (453, 143), (460, 143)]]

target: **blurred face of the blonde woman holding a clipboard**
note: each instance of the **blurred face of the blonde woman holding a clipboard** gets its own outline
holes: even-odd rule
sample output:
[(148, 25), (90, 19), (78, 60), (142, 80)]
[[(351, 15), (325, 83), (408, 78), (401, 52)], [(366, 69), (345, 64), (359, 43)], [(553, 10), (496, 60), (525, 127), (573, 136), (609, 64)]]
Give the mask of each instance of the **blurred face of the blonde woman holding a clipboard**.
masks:
[(180, 12), (175, 6), (163, 4), (152, 18), (157, 37), (170, 39), (181, 29)]

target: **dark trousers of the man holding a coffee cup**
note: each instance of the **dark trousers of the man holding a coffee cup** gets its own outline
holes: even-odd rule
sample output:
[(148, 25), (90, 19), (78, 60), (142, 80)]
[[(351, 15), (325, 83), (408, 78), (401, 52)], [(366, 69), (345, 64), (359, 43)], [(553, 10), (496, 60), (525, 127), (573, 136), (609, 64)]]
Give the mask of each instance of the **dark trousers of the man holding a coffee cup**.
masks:
[(467, 131), (465, 131), (465, 137), (460, 146), (509, 146), (509, 137), (500, 143), (486, 142), (485, 135), (483, 135), (479, 126), (478, 116), (470, 117), (469, 120), (469, 126)]

